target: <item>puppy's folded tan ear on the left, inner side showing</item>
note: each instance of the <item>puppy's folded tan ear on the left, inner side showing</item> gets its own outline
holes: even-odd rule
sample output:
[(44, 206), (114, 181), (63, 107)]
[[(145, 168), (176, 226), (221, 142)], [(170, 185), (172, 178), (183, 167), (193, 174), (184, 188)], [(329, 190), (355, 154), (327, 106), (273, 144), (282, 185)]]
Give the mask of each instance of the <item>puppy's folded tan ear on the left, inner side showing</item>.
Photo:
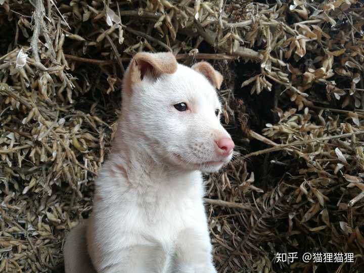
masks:
[(149, 73), (157, 77), (160, 74), (172, 74), (177, 70), (177, 61), (170, 52), (137, 53), (129, 64), (130, 83), (140, 82)]

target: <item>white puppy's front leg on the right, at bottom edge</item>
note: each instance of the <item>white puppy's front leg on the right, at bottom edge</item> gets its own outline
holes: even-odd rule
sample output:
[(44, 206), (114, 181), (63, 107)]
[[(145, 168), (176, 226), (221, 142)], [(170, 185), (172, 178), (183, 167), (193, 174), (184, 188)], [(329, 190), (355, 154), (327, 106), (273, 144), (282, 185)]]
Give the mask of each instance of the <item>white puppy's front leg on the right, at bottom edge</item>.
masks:
[(178, 235), (172, 273), (216, 273), (207, 231), (186, 229)]

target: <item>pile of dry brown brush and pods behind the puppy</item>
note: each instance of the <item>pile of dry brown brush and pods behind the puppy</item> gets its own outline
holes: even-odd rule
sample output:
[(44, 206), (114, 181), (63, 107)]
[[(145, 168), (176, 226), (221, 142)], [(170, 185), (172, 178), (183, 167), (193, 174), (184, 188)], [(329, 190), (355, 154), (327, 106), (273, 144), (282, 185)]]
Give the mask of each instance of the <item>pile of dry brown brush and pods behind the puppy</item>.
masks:
[(59, 270), (138, 51), (224, 73), (240, 154), (207, 177), (219, 272), (362, 271), (363, 16), (358, 0), (0, 0), (0, 271)]

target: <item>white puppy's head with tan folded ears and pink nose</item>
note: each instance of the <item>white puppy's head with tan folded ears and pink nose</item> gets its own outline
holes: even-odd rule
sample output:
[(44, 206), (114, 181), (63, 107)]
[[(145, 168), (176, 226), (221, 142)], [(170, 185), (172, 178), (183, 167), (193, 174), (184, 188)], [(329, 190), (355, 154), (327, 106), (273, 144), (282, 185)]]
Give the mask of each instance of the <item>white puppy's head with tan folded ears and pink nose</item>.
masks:
[(221, 82), (206, 62), (189, 68), (171, 53), (136, 54), (123, 82), (122, 114), (130, 135), (162, 164), (217, 171), (234, 148), (220, 124)]

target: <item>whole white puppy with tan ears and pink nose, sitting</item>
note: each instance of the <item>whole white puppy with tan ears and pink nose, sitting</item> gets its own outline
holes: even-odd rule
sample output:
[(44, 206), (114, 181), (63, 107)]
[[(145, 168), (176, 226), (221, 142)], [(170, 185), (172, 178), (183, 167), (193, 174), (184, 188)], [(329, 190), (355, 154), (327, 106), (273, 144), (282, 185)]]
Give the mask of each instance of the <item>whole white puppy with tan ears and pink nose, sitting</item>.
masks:
[(90, 218), (68, 235), (66, 273), (214, 273), (201, 171), (232, 158), (219, 121), (222, 76), (171, 53), (138, 53), (122, 115), (96, 180)]

